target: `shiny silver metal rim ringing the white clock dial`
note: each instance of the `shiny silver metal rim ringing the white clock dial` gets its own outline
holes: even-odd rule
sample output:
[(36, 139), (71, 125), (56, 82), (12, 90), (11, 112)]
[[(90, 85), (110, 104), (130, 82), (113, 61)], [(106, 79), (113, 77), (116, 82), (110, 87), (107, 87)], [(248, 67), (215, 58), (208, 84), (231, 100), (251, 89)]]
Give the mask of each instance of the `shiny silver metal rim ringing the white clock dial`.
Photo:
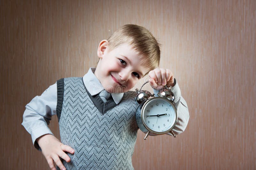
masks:
[[(143, 117), (143, 115), (142, 115), (142, 112), (143, 112), (144, 108), (146, 107), (147, 103), (148, 103), (149, 101), (151, 101), (151, 100), (156, 100), (157, 98), (159, 98), (159, 99), (164, 99), (164, 100), (166, 100), (167, 102), (169, 102), (169, 103), (173, 106), (174, 111), (175, 111), (175, 115), (176, 115), (176, 117), (175, 117), (175, 122), (174, 122), (174, 124), (172, 125), (172, 127), (171, 127), (169, 130), (163, 131), (163, 132), (157, 132), (157, 131), (153, 131), (153, 130), (149, 129), (149, 128), (148, 128), (148, 125), (146, 125), (146, 124), (144, 123), (144, 121), (143, 121), (143, 118), (144, 118), (144, 117)], [(141, 108), (141, 111), (140, 111), (140, 118), (141, 118), (142, 124), (144, 125), (144, 127), (145, 127), (148, 131), (150, 131), (150, 132), (152, 132), (152, 133), (155, 133), (155, 134), (157, 134), (157, 135), (160, 135), (160, 134), (165, 134), (165, 133), (167, 133), (167, 132), (172, 131), (172, 129), (174, 128), (174, 126), (175, 126), (176, 123), (177, 123), (177, 120), (178, 120), (178, 113), (177, 113), (177, 109), (176, 109), (176, 107), (174, 106), (174, 104), (173, 104), (171, 101), (169, 101), (168, 99), (166, 99), (166, 98), (164, 98), (164, 97), (153, 97), (153, 98), (148, 99), (148, 100), (143, 104), (143, 106), (142, 106), (142, 108)]]

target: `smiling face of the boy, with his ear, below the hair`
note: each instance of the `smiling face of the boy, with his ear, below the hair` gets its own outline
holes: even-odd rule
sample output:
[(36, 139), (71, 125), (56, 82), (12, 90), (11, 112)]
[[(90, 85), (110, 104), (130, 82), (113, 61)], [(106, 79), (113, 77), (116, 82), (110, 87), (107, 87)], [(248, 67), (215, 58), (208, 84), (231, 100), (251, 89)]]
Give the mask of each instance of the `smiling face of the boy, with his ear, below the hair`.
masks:
[[(105, 41), (105, 42), (102, 42)], [(140, 56), (132, 46), (121, 44), (108, 51), (107, 40), (102, 40), (98, 49), (100, 58), (95, 76), (109, 93), (123, 93), (132, 87), (148, 72)]]

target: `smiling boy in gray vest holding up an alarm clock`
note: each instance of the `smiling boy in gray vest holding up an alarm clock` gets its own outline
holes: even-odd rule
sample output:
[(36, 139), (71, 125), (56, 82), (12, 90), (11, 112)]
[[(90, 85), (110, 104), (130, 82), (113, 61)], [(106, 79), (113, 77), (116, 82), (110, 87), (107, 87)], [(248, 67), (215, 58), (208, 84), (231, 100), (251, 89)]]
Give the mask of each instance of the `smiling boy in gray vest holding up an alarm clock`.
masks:
[[(133, 169), (138, 104), (136, 92), (129, 90), (146, 74), (154, 91), (173, 87), (178, 109), (174, 133), (187, 126), (187, 104), (172, 72), (156, 68), (160, 50), (148, 30), (124, 25), (100, 42), (97, 54), (97, 67), (83, 78), (60, 79), (26, 105), (22, 125), (51, 169), (53, 162), (60, 169)], [(52, 115), (58, 116), (61, 142), (47, 127)]]

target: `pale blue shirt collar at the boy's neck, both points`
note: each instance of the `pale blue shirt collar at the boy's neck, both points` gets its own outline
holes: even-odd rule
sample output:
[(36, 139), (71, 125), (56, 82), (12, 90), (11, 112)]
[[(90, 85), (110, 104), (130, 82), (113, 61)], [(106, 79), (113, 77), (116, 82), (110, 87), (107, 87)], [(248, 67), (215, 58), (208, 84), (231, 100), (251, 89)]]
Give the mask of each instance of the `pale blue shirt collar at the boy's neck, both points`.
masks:
[[(83, 77), (84, 85), (92, 96), (97, 95), (104, 90), (99, 79), (94, 75), (95, 70), (95, 67), (89, 68), (88, 72), (84, 74)], [(111, 96), (115, 103), (118, 104), (123, 99), (124, 93), (111, 93)]]

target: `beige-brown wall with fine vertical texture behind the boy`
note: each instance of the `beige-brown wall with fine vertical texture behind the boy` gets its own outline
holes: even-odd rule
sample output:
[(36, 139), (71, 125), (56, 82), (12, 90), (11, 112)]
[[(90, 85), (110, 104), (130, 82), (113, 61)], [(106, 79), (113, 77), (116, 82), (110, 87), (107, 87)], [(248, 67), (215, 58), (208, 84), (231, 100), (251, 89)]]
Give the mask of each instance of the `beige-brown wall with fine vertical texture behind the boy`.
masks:
[[(124, 24), (162, 44), (189, 107), (177, 138), (139, 131), (135, 169), (256, 169), (256, 1), (0, 1), (1, 169), (49, 169), (21, 126), (25, 105), (56, 80), (83, 76)], [(57, 137), (58, 121), (50, 128)]]

